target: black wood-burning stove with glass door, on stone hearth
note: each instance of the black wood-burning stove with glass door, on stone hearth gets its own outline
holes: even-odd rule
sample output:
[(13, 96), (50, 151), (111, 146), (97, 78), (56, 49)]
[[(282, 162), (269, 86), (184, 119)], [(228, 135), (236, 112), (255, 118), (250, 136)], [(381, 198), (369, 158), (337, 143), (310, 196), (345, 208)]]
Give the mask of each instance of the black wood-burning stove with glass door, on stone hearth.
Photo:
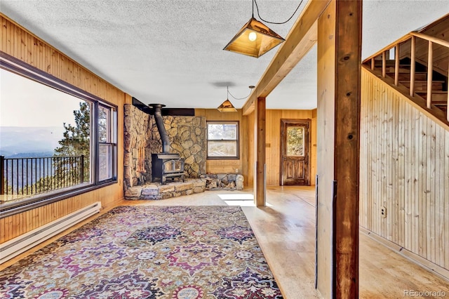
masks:
[(153, 180), (159, 178), (162, 184), (167, 179), (180, 178), (184, 181), (184, 159), (179, 154), (152, 154)]

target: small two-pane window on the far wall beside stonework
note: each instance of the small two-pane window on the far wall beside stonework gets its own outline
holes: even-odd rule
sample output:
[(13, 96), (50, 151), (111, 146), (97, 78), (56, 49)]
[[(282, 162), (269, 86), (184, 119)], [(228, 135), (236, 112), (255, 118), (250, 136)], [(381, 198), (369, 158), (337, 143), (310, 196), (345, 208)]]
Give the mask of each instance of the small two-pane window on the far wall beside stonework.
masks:
[(208, 159), (239, 159), (239, 121), (208, 121)]

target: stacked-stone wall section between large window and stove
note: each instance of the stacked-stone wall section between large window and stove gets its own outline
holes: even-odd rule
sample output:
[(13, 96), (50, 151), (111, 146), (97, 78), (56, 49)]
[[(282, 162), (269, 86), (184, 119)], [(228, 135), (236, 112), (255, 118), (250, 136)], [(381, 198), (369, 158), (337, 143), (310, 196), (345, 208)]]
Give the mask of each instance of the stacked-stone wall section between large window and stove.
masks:
[(152, 178), (151, 117), (133, 105), (126, 104), (124, 128), (123, 187), (145, 185)]

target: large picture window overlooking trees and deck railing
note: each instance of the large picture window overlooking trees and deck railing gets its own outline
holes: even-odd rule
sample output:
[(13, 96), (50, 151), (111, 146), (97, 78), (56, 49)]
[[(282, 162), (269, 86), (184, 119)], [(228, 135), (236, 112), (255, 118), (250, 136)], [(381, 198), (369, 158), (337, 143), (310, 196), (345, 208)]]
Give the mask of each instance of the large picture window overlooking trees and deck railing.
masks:
[(115, 182), (116, 106), (4, 53), (0, 62), (0, 211)]

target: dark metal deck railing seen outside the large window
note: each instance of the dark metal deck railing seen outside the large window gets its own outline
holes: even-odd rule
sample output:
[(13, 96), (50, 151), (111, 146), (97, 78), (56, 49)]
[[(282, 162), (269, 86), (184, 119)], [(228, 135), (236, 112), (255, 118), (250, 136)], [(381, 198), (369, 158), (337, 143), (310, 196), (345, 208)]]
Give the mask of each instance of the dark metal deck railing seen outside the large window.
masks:
[(0, 194), (32, 195), (84, 182), (85, 157), (5, 158), (0, 156)]

